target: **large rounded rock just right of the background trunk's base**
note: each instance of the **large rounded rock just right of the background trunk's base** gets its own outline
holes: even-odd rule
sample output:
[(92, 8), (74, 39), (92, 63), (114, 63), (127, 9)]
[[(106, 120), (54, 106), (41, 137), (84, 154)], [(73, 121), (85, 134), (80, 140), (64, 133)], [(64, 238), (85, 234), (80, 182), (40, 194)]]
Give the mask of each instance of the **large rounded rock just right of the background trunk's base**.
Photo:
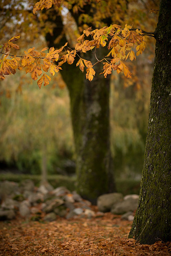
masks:
[(113, 205), (121, 201), (123, 201), (121, 193), (104, 194), (98, 197), (97, 207), (99, 211), (106, 212), (110, 211)]

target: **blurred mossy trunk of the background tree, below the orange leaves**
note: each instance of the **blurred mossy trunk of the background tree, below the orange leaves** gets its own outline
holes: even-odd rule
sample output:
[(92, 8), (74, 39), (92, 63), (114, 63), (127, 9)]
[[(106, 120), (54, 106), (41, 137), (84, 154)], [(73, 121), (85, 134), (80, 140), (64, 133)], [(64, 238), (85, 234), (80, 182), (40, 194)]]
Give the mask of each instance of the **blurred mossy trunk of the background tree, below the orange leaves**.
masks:
[[(92, 58), (93, 53), (86, 54), (86, 59)], [(77, 192), (96, 203), (99, 195), (115, 191), (110, 150), (110, 77), (99, 75), (101, 65), (96, 65), (96, 76), (90, 82), (74, 66), (62, 66), (61, 75), (70, 93)]]

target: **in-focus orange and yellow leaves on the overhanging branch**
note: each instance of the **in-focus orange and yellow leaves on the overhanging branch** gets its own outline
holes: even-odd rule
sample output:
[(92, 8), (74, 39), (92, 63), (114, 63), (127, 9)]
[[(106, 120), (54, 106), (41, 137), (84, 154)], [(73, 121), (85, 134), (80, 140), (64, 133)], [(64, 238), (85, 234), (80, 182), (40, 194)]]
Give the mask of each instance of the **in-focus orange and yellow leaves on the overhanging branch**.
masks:
[[(132, 74), (123, 61), (130, 59), (135, 60), (136, 55), (138, 56), (145, 50), (145, 36), (141, 30), (133, 30), (131, 26), (125, 25), (122, 29), (119, 25), (111, 25), (110, 27), (103, 27), (101, 29), (95, 29), (92, 31), (91, 28), (83, 31), (83, 34), (77, 38), (77, 44), (75, 49), (66, 49), (67, 44), (62, 46), (60, 49), (55, 50), (54, 47), (49, 49), (48, 53), (45, 51), (48, 48), (42, 49), (40, 52), (36, 51), (35, 48), (30, 48), (25, 51), (23, 56), (10, 55), (11, 49), (19, 49), (19, 46), (13, 42), (19, 39), (19, 35), (13, 36), (7, 43), (1, 46), (2, 58), (0, 60), (0, 75), (1, 80), (5, 79), (5, 75), (15, 74), (16, 69), (22, 70), (25, 68), (26, 73), (30, 73), (33, 80), (38, 81), (38, 87), (41, 88), (42, 83), (44, 86), (49, 84), (51, 77), (45, 74), (47, 71), (51, 75), (61, 70), (63, 63), (67, 62), (72, 65), (76, 55), (79, 56), (79, 60), (76, 66), (84, 72), (86, 67), (86, 78), (92, 81), (95, 76), (95, 70), (93, 67), (99, 63), (103, 63), (103, 74), (104, 77), (112, 73), (112, 70), (117, 71), (119, 74), (123, 72), (125, 77), (131, 77)], [(90, 39), (89, 39), (90, 38)], [(106, 47), (108, 43), (108, 55), (104, 56), (103, 59), (98, 59), (96, 51), (100, 47)], [(134, 45), (136, 45), (136, 55)], [(92, 63), (89, 60), (83, 59), (78, 53), (87, 53), (87, 51), (94, 51), (96, 62)], [(9, 59), (10, 56), (12, 59)], [(45, 73), (42, 73), (45, 72)]]

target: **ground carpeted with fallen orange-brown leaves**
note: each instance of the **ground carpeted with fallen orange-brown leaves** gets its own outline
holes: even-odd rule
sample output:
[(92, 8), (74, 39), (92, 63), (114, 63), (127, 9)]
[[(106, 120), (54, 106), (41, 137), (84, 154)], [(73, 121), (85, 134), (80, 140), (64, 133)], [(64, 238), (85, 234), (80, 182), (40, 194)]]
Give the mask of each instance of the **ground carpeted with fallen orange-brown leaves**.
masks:
[(105, 213), (99, 218), (17, 219), (0, 223), (0, 255), (171, 255), (171, 243), (142, 245), (127, 239), (132, 222)]

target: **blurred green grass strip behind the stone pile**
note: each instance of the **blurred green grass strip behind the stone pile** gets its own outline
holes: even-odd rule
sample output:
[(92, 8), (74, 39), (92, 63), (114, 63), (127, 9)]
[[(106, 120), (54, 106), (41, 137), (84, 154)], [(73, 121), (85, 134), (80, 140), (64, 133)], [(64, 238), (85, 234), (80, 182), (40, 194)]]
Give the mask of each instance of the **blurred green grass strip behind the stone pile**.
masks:
[[(14, 181), (20, 183), (22, 180), (30, 179), (34, 182), (35, 186), (39, 186), (41, 181), (40, 175), (26, 175), (26, 174), (0, 174), (0, 181)], [(49, 183), (54, 187), (65, 186), (70, 191), (76, 188), (76, 176), (62, 176), (62, 175), (49, 175)], [(117, 192), (125, 195), (137, 194), (139, 195), (140, 181), (132, 179), (116, 179)]]

